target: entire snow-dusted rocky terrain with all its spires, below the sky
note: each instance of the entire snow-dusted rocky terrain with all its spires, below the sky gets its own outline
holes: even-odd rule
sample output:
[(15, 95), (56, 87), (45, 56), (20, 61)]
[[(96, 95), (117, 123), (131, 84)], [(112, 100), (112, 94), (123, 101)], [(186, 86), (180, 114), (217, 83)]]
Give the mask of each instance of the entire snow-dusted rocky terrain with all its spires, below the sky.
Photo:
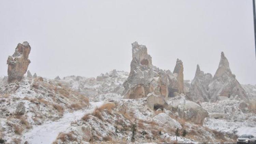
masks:
[(184, 61), (159, 69), (156, 54), (138, 42), (130, 72), (90, 78), (32, 74), (30, 52), (28, 42), (19, 43), (0, 79), (6, 143), (234, 143), (256, 135), (256, 86), (238, 82), (223, 52), (213, 76), (197, 65), (191, 81), (184, 81)]

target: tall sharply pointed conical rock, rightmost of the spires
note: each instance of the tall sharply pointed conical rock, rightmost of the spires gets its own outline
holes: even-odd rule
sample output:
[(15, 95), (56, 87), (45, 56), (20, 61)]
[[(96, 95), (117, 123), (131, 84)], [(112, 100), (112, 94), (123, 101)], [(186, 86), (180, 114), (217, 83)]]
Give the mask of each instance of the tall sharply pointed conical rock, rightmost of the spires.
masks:
[(248, 101), (246, 92), (240, 83), (237, 81), (236, 76), (232, 74), (229, 68), (228, 59), (224, 53), (221, 53), (221, 61), (219, 67), (209, 84), (211, 102), (219, 100), (220, 97), (236, 98)]

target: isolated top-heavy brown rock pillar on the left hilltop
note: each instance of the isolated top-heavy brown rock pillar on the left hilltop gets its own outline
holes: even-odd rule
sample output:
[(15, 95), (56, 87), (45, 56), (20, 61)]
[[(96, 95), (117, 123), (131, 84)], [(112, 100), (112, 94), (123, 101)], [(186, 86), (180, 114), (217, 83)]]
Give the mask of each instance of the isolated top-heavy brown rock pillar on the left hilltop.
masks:
[(22, 80), (24, 74), (27, 72), (30, 60), (28, 59), (31, 47), (28, 42), (18, 44), (15, 53), (8, 57), (8, 82)]

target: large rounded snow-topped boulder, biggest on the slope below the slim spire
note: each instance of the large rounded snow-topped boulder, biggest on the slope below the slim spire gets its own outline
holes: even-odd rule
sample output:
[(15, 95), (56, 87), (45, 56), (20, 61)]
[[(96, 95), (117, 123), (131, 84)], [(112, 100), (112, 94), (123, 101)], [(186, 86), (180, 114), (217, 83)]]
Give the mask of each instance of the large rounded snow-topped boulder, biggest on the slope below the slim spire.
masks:
[(185, 97), (174, 97), (167, 101), (168, 109), (173, 113), (177, 112), (180, 118), (191, 121), (195, 124), (203, 124), (208, 112), (195, 102), (186, 100)]

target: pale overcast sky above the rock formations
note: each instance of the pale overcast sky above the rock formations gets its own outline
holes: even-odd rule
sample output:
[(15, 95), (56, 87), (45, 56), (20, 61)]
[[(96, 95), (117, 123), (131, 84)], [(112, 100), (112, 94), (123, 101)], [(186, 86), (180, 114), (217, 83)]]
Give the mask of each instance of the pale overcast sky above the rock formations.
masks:
[(252, 0), (1, 0), (0, 75), (18, 43), (32, 47), (29, 70), (43, 77), (130, 71), (131, 43), (153, 64), (184, 78), (198, 63), (214, 74), (224, 51), (242, 84), (256, 84)]

